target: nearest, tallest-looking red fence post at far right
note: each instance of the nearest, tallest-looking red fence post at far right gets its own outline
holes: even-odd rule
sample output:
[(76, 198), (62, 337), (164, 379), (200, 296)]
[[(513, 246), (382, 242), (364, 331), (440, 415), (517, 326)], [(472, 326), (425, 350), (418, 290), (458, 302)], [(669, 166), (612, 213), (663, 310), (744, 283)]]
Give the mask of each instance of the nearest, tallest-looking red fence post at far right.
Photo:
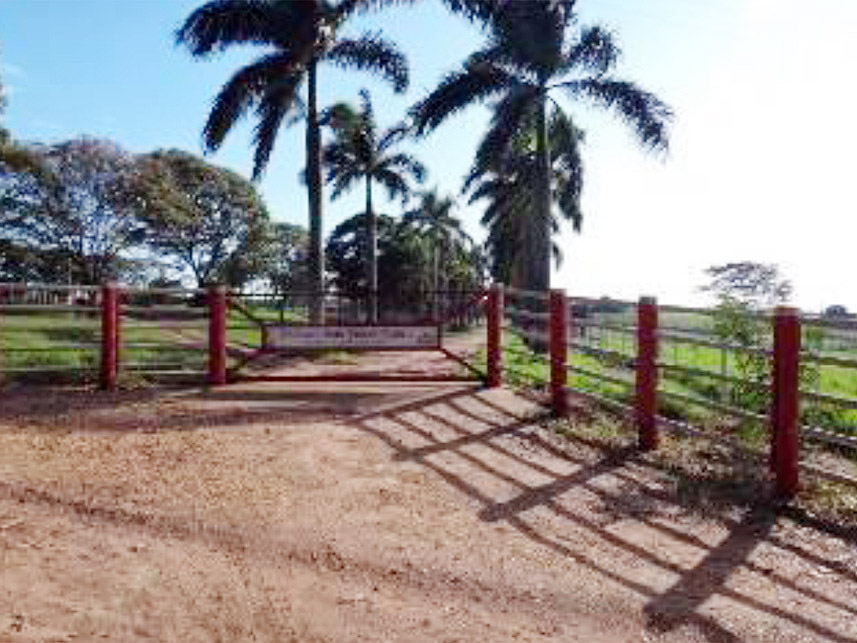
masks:
[(780, 306), (774, 316), (771, 395), (771, 465), (777, 494), (792, 498), (798, 489), (800, 427), (800, 318)]

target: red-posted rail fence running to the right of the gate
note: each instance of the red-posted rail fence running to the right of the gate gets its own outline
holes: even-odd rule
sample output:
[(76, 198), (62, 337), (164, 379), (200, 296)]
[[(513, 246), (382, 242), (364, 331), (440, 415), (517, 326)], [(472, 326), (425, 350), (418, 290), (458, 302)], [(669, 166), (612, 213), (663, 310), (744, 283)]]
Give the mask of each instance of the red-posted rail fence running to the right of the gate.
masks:
[[(489, 344), (489, 370), (502, 373), (495, 384), (505, 377), (545, 388), (560, 415), (566, 393), (628, 414), (645, 448), (657, 446), (661, 426), (702, 432), (770, 457), (775, 467), (779, 457), (780, 467), (857, 484), (841, 472), (783, 461), (800, 442), (857, 454), (857, 321), (780, 309), (750, 315), (752, 343), (727, 342), (717, 309), (492, 292), (502, 320), (494, 360), (504, 361), (492, 364)], [(780, 434), (792, 430), (779, 446)], [(779, 474), (781, 491), (791, 495), (796, 470)]]

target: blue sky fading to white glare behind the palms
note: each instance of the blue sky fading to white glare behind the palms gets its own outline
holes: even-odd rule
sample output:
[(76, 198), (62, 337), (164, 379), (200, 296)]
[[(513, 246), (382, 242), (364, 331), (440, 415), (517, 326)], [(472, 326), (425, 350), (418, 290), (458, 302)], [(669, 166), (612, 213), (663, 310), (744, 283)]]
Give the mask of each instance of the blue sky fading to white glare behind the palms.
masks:
[[(201, 152), (211, 99), (252, 48), (195, 61), (173, 32), (198, 0), (0, 0), (4, 123), (24, 140), (110, 138), (133, 152)], [(696, 303), (706, 266), (780, 265), (795, 301), (857, 309), (850, 284), (857, 238), (850, 176), (857, 149), (857, 2), (853, 0), (580, 0), (582, 22), (612, 28), (620, 74), (676, 113), (666, 158), (640, 151), (623, 125), (569, 105), (587, 130), (584, 226), (565, 230), (554, 283), (571, 294)], [(323, 72), (322, 103), (373, 96), (382, 125), (402, 117), (445, 71), (479, 46), (479, 31), (437, 0), (361, 19), (406, 52), (405, 96), (359, 73)], [(487, 111), (450, 119), (414, 147), (428, 186), (457, 193)], [(250, 124), (210, 157), (249, 176)], [(303, 130), (279, 138), (260, 189), (276, 219), (306, 224), (297, 175)], [(360, 209), (359, 194), (327, 204), (325, 230)], [(390, 214), (400, 212), (388, 204)], [(460, 214), (482, 234), (477, 208)]]

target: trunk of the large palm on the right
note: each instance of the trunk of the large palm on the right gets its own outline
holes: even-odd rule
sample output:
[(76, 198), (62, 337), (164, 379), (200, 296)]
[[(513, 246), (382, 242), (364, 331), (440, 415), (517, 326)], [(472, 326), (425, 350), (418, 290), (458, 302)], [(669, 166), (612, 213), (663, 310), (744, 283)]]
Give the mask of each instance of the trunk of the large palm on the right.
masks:
[(551, 176), (550, 150), (548, 149), (547, 126), (547, 94), (542, 91), (539, 96), (536, 122), (536, 157), (538, 162), (538, 184), (536, 185), (536, 220), (532, 234), (532, 247), (529, 257), (527, 288), (530, 290), (546, 291), (550, 288), (550, 209), (551, 209)]

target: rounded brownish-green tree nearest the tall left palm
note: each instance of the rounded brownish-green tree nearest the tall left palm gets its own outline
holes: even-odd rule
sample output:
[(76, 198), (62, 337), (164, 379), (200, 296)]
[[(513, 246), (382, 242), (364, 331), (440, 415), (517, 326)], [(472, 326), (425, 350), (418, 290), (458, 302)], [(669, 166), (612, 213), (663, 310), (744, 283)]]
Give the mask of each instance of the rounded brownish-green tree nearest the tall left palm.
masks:
[(141, 157), (135, 180), (145, 243), (197, 285), (241, 286), (261, 270), (268, 212), (239, 174), (180, 150)]

